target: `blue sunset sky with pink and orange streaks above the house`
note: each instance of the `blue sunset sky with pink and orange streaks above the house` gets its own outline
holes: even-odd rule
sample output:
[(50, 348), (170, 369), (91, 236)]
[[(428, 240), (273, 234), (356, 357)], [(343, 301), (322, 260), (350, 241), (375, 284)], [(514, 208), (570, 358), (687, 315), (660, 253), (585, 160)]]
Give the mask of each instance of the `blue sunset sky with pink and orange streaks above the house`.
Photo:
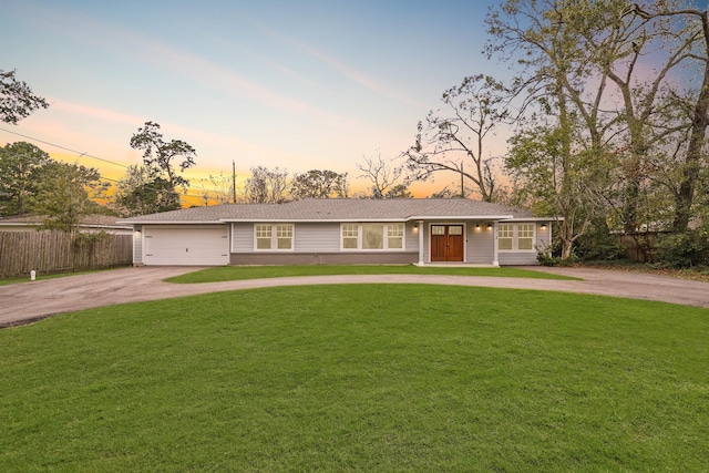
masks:
[(356, 163), (413, 144), (444, 90), (505, 70), (481, 53), (487, 3), (3, 0), (0, 69), (51, 106), (0, 124), (0, 145), (28, 141), (116, 179), (154, 121), (196, 148), (196, 187), (234, 160), (240, 178), (257, 165), (331, 169), (361, 188)]

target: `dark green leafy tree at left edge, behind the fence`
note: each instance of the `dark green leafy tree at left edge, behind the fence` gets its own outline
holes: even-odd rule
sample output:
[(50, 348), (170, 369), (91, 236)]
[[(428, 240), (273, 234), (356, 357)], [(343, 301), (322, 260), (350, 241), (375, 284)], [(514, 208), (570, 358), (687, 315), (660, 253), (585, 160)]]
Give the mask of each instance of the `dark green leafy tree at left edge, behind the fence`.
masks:
[(37, 193), (40, 171), (51, 162), (33, 144), (18, 142), (0, 148), (0, 216), (23, 215)]

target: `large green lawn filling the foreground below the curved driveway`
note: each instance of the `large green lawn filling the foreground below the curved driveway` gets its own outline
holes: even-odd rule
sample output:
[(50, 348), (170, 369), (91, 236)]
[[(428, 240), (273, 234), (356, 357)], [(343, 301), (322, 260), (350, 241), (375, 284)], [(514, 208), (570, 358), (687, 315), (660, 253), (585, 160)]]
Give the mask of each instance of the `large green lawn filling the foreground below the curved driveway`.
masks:
[(0, 471), (707, 471), (709, 311), (210, 294), (0, 330)]

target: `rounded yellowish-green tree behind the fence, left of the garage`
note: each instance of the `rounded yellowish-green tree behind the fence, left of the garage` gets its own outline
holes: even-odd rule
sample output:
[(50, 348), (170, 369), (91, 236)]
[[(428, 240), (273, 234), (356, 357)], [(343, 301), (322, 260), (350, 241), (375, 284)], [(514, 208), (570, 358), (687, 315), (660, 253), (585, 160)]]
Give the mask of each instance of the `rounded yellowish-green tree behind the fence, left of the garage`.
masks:
[(105, 197), (109, 183), (99, 169), (52, 162), (43, 167), (32, 209), (44, 216), (42, 228), (74, 234), (81, 219), (101, 210), (93, 199)]

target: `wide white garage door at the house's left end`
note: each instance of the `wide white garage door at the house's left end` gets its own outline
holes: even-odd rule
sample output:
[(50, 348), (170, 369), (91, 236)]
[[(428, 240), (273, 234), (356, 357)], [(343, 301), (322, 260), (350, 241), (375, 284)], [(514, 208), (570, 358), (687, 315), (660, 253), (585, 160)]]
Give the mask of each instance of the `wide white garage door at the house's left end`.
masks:
[(229, 264), (226, 225), (143, 227), (145, 265), (225, 266)]

